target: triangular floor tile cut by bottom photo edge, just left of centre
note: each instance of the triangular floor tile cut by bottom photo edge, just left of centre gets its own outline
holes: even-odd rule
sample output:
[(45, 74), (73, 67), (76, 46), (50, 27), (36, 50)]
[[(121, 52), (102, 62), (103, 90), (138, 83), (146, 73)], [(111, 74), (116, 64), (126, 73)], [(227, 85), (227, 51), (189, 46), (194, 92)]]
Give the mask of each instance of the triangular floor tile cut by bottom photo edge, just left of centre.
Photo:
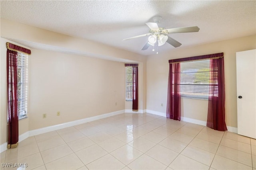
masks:
[(91, 162), (86, 165), (88, 169), (94, 170), (120, 170), (125, 167), (119, 160), (114, 158), (114, 156), (107, 154), (101, 158)]

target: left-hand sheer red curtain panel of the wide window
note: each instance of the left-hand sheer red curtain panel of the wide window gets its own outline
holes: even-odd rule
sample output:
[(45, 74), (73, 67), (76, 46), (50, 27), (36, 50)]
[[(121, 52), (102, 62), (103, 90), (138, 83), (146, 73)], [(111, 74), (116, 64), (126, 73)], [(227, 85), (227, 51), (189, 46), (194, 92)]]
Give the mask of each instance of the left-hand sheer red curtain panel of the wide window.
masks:
[(170, 63), (166, 117), (180, 121), (180, 63)]

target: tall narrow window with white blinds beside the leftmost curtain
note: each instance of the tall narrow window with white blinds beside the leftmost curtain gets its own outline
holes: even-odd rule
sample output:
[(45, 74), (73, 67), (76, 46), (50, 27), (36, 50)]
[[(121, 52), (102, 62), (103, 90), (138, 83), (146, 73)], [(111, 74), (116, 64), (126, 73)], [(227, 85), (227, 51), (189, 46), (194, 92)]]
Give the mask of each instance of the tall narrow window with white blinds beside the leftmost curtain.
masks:
[(28, 113), (28, 55), (18, 52), (18, 117), (23, 119)]

